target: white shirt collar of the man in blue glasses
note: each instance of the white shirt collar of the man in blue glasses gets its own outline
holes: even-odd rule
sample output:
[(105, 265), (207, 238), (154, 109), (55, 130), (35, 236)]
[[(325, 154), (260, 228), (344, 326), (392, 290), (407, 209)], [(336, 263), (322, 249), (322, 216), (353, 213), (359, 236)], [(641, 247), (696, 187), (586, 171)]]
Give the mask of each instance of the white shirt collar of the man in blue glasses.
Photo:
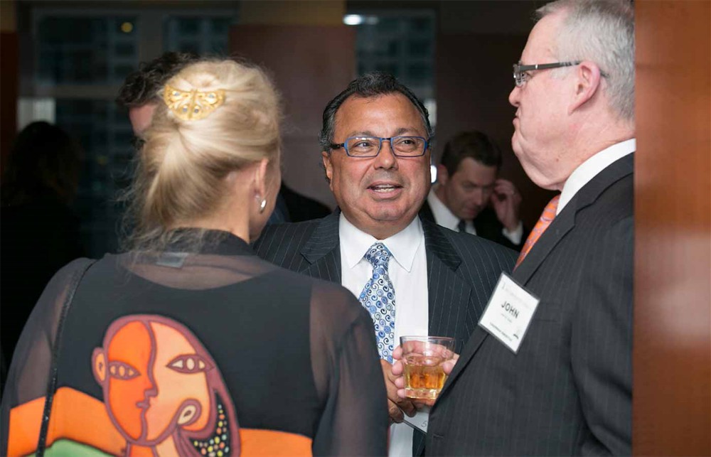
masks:
[(348, 268), (355, 267), (363, 259), (365, 252), (368, 252), (368, 249), (374, 243), (380, 241), (390, 250), (395, 262), (400, 264), (403, 269), (410, 271), (412, 270), (412, 264), (415, 262), (415, 254), (419, 249), (419, 244), (424, 240), (424, 231), (419, 217), (415, 217), (410, 222), (410, 225), (407, 225), (405, 229), (392, 235), (392, 237), (385, 240), (376, 240), (372, 235), (368, 235), (351, 224), (341, 212), (338, 220), (338, 237), (341, 240), (341, 256), (346, 260)]

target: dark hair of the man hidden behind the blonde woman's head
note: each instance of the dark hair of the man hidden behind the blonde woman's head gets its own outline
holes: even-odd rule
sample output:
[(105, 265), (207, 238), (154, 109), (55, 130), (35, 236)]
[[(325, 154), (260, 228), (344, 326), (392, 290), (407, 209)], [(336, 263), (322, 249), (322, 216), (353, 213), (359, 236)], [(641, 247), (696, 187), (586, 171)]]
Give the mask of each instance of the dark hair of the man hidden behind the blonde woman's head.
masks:
[(196, 53), (168, 52), (150, 62), (143, 62), (139, 69), (126, 77), (119, 90), (116, 102), (122, 107), (142, 107), (157, 100), (156, 93), (173, 75), (187, 65), (200, 60)]

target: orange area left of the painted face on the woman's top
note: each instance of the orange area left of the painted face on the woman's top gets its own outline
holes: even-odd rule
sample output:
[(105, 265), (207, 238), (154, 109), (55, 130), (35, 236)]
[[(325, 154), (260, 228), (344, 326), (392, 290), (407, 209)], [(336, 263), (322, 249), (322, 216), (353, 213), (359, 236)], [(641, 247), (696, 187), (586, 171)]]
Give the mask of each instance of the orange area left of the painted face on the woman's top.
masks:
[[(8, 453), (25, 456), (37, 448), (44, 397), (10, 410)], [(57, 439), (70, 439), (117, 455), (126, 440), (119, 434), (103, 402), (71, 387), (60, 387), (54, 395), (47, 447)]]

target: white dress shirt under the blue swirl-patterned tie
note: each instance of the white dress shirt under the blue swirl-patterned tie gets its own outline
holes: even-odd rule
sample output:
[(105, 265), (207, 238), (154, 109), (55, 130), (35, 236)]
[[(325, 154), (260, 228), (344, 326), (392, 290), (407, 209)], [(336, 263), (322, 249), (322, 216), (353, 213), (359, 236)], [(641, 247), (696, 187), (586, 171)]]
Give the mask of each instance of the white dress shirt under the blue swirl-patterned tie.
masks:
[[(373, 266), (363, 258), (370, 246), (382, 242), (392, 253), (388, 276), (395, 289), (395, 344), (402, 335), (427, 335), (429, 328), (429, 299), (427, 295), (427, 254), (424, 251), (424, 232), (419, 217), (405, 230), (385, 240), (356, 228), (341, 213), (338, 223), (341, 241), (341, 284), (360, 296), (365, 283), (373, 276)], [(390, 426), (389, 456), (412, 456), (412, 428), (407, 424)]]

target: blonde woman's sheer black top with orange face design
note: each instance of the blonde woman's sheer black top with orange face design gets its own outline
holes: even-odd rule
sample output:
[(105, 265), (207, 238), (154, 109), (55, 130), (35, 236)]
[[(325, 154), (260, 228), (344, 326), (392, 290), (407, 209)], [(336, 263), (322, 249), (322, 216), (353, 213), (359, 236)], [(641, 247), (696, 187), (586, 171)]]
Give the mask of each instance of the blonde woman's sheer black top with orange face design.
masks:
[(48, 455), (385, 454), (367, 311), (337, 284), (210, 235), (200, 252), (105, 256), (63, 319), (88, 261), (58, 271), (10, 367), (1, 455), (36, 451), (53, 357)]

